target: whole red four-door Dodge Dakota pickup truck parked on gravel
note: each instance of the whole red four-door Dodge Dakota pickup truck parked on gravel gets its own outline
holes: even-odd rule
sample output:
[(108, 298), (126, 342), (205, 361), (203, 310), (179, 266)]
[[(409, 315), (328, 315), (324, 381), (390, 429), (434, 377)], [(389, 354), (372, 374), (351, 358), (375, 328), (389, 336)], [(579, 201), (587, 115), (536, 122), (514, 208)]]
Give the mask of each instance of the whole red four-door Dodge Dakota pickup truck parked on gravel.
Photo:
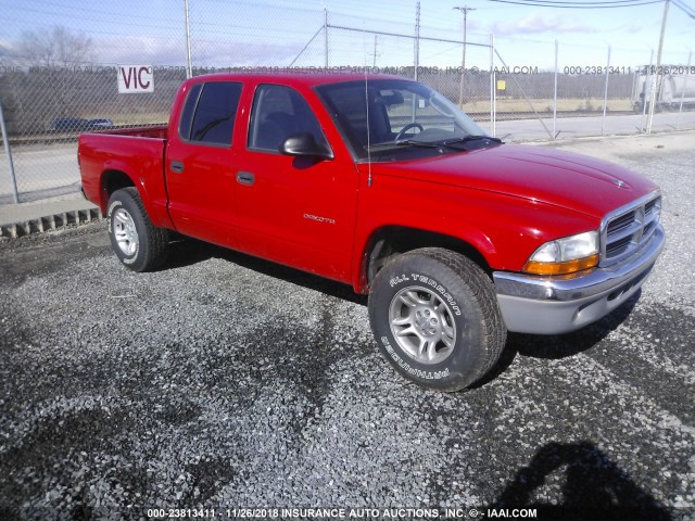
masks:
[(78, 157), (126, 267), (161, 266), (177, 232), (350, 283), (395, 370), (444, 391), (479, 380), (507, 331), (620, 306), (665, 241), (650, 181), (502, 143), (386, 75), (195, 77), (167, 127), (83, 135)]

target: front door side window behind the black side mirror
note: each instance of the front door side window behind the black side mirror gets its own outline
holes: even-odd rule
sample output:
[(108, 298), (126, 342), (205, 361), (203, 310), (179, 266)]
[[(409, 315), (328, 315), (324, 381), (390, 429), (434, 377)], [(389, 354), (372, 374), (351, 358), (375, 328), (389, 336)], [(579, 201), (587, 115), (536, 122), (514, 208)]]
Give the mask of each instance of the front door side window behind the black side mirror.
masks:
[(317, 143), (326, 142), (320, 125), (306, 100), (289, 87), (261, 85), (251, 111), (249, 148), (278, 152), (290, 136), (309, 132)]

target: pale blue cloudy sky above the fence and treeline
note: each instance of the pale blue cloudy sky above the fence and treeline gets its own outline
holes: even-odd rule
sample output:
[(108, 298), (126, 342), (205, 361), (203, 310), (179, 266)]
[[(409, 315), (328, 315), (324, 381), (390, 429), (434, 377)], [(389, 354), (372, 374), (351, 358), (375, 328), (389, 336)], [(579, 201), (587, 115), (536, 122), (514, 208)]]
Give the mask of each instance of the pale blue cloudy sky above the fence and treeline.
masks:
[[(695, 10), (695, 0), (680, 1)], [(317, 31), (324, 23), (324, 7), (331, 25), (357, 29), (329, 31), (329, 64), (413, 62), (412, 40), (384, 35), (375, 41), (369, 31), (413, 35), (415, 0), (189, 0), (189, 4), (194, 64), (321, 65), (325, 40)], [(664, 2), (574, 10), (486, 0), (421, 0), (421, 65), (460, 64), (460, 46), (433, 39), (462, 39), (464, 16), (453, 8), (464, 5), (475, 9), (467, 18), (471, 42), (467, 66), (481, 68), (490, 64), (490, 50), (473, 43), (490, 43), (491, 34), (509, 66), (552, 68), (555, 39), (560, 46), (560, 67), (604, 65), (608, 46), (611, 65), (643, 65), (658, 47), (664, 12)], [(23, 31), (62, 25), (89, 36), (103, 63), (185, 64), (184, 0), (0, 0), (0, 46), (5, 49), (16, 48)], [(695, 20), (671, 4), (662, 62), (685, 64), (695, 48), (693, 35)], [(495, 65), (501, 66), (498, 59)]]

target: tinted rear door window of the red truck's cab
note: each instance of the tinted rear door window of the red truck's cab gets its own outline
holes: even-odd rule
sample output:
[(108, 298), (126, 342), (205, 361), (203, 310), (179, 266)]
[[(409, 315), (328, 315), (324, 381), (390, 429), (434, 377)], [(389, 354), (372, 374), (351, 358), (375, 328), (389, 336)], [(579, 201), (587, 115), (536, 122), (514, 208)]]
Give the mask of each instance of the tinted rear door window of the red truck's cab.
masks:
[[(198, 96), (191, 89), (181, 114), (181, 137), (201, 143), (230, 145), (240, 96), (241, 84), (230, 81), (205, 84)], [(187, 118), (193, 111), (189, 104), (195, 105), (190, 124)]]

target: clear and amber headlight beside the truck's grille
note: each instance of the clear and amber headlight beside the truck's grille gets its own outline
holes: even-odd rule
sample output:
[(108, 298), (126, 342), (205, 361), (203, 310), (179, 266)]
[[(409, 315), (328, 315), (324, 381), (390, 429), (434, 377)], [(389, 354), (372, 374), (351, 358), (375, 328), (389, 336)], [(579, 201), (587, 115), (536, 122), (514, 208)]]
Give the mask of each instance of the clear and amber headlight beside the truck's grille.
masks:
[(523, 266), (534, 275), (567, 275), (598, 266), (598, 232), (587, 231), (546, 242)]

